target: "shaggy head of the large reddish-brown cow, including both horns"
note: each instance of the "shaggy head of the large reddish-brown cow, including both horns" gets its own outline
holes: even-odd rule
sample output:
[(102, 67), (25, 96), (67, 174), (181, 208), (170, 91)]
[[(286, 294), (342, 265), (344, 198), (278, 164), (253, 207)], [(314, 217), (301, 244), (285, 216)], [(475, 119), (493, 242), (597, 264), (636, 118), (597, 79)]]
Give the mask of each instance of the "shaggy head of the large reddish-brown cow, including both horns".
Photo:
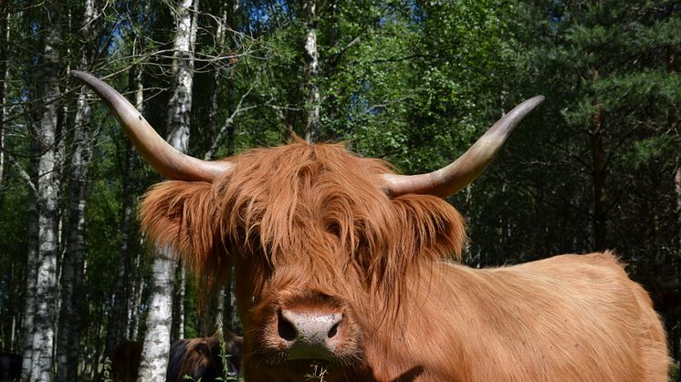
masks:
[(106, 100), (145, 160), (172, 179), (141, 204), (142, 227), (206, 284), (236, 264), (245, 357), (270, 366), (361, 366), (363, 339), (399, 311), (408, 276), (456, 257), (466, 233), (442, 199), (473, 181), (543, 98), (525, 101), (458, 160), (394, 174), (340, 145), (251, 150), (217, 161), (174, 150), (119, 93), (74, 72)]

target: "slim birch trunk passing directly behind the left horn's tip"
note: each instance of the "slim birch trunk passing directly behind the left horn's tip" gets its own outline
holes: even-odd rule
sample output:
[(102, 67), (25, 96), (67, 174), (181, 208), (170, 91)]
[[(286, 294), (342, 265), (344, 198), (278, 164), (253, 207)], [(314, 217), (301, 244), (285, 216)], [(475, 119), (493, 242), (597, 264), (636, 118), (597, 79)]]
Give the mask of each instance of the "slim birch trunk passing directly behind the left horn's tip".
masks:
[[(80, 31), (84, 41), (92, 40), (94, 19), (92, 0), (85, 2)], [(90, 49), (84, 48), (80, 67), (89, 67)], [(57, 343), (57, 380), (75, 381), (78, 375), (80, 323), (83, 309), (83, 275), (85, 266), (85, 210), (89, 161), (92, 156), (92, 108), (85, 87), (80, 92), (73, 132), (73, 152), (69, 172), (67, 251), (62, 263), (59, 329)]]

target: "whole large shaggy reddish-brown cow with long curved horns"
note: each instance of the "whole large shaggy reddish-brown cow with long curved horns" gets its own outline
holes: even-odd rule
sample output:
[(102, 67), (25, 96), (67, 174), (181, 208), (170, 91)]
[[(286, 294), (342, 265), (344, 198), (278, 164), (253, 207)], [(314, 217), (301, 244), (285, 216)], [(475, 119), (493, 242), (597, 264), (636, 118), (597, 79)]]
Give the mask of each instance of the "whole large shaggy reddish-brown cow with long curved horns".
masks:
[(483, 270), (449, 261), (466, 232), (441, 197), (473, 181), (541, 98), (445, 169), (410, 177), (299, 139), (197, 160), (115, 90), (74, 74), (173, 179), (142, 202), (146, 232), (208, 284), (236, 264), (247, 380), (665, 380), (660, 320), (613, 254)]

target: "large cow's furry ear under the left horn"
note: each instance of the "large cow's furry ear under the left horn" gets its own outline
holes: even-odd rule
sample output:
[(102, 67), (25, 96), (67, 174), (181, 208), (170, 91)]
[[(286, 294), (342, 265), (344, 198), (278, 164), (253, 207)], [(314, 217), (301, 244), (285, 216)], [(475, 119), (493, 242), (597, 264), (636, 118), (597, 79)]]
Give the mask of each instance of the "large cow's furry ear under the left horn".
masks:
[(229, 268), (213, 192), (202, 181), (163, 181), (147, 191), (140, 206), (141, 228), (152, 242), (172, 247), (209, 284), (222, 280)]

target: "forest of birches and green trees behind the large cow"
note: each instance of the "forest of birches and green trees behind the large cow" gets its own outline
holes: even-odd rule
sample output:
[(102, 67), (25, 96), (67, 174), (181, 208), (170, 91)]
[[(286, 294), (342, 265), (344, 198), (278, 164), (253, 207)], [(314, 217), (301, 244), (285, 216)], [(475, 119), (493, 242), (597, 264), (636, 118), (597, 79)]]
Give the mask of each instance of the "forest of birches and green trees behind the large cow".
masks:
[(217, 321), (239, 331), (229, 284), (200, 315), (200, 278), (175, 264), (158, 274), (135, 213), (161, 177), (69, 78), (80, 69), (202, 159), (293, 131), (403, 173), (456, 159), (543, 94), (449, 198), (468, 224), (465, 262), (612, 249), (653, 294), (678, 359), (680, 12), (645, 0), (3, 0), (0, 351), (24, 356), (26, 380), (99, 380), (117, 344), (161, 325), (155, 294), (172, 311), (169, 340), (210, 336)]

